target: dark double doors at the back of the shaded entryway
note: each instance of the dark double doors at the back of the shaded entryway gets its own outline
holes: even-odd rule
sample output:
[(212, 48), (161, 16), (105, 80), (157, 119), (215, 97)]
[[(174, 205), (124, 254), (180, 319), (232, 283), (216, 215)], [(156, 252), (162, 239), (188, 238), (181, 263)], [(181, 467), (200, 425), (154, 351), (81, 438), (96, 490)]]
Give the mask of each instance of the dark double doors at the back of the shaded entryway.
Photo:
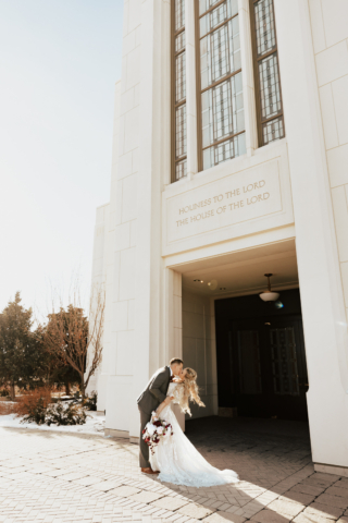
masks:
[(301, 316), (238, 319), (228, 340), (231, 392), (238, 415), (306, 421)]

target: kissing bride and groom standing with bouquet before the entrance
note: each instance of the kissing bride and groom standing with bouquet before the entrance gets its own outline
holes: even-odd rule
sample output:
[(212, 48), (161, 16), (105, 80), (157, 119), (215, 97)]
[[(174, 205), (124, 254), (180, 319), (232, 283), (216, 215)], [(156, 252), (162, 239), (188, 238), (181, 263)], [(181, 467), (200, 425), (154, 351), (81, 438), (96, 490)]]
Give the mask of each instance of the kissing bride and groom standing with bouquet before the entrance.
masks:
[(212, 466), (183, 433), (172, 404), (177, 403), (183, 413), (191, 415), (190, 401), (206, 406), (199, 397), (197, 373), (184, 368), (179, 357), (173, 357), (167, 366), (154, 373), (137, 399), (141, 472), (159, 474), (161, 482), (191, 487), (237, 483), (234, 471)]

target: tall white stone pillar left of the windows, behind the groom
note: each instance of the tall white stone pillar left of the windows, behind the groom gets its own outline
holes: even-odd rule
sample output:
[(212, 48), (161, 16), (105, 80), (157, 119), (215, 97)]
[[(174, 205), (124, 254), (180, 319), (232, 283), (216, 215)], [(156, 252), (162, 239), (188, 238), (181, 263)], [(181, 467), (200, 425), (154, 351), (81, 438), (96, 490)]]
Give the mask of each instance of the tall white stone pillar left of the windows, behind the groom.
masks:
[(170, 3), (140, 2), (139, 172), (135, 257), (135, 333), (129, 436), (138, 437), (136, 398), (149, 377), (165, 363), (163, 336), (164, 265), (161, 257), (161, 197), (170, 168)]

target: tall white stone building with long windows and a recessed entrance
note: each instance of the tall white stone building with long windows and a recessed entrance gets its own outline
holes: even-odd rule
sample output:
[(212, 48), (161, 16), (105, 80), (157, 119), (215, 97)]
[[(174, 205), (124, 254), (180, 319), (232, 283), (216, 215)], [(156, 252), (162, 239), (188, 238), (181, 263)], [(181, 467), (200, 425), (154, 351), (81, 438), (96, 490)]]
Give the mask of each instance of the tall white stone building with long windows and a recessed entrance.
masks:
[(109, 433), (137, 440), (182, 355), (196, 416), (308, 412), (315, 469), (348, 475), (347, 0), (124, 1), (92, 281)]

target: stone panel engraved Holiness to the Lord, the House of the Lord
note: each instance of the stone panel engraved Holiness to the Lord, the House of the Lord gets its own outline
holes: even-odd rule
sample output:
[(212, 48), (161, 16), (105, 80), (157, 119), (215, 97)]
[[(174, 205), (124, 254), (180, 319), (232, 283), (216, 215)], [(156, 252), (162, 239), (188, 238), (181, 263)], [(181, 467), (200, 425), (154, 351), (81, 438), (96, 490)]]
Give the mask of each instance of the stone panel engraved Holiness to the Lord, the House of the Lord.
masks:
[(278, 162), (177, 194), (167, 199), (167, 242), (176, 242), (282, 210)]

